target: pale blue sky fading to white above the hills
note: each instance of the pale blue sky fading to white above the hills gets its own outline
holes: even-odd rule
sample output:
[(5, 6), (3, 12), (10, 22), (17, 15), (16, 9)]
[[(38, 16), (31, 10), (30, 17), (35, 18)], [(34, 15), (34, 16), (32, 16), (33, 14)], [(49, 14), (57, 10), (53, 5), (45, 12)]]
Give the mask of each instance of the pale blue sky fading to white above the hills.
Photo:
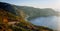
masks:
[(60, 0), (0, 0), (0, 2), (36, 8), (60, 9)]

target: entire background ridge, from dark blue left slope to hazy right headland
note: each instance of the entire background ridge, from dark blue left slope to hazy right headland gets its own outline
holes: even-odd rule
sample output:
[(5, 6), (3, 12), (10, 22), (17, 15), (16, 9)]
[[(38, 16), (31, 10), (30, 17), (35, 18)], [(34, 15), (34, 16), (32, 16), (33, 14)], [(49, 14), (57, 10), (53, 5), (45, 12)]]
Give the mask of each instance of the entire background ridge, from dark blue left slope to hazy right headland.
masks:
[[(6, 4), (6, 3), (3, 3), (3, 4)], [(58, 12), (54, 11), (54, 9), (51, 9), (51, 8), (40, 9), (40, 8), (34, 8), (34, 7), (28, 7), (28, 6), (16, 6), (11, 4), (3, 5), (3, 4), (0, 5), (1, 8), (9, 10), (9, 12), (15, 15), (19, 15), (18, 12), (22, 10), (26, 14), (26, 17), (29, 17), (27, 18), (28, 20), (34, 19), (36, 17), (41, 17), (41, 16), (43, 17), (59, 16)]]

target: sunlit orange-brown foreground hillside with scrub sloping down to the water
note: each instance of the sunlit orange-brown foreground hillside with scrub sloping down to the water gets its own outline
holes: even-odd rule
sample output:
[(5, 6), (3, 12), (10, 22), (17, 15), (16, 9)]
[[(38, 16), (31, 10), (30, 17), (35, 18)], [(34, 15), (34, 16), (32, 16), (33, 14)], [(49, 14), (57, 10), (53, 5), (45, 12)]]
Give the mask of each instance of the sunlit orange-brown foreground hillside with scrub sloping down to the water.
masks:
[[(15, 22), (15, 23), (9, 24), (9, 22)], [(25, 21), (23, 17), (20, 17), (20, 20), (18, 21), (18, 19), (16, 19), (16, 16), (13, 16), (4, 9), (0, 9), (0, 31), (43, 31), (43, 30), (53, 31), (48, 27), (33, 25), (30, 22)]]

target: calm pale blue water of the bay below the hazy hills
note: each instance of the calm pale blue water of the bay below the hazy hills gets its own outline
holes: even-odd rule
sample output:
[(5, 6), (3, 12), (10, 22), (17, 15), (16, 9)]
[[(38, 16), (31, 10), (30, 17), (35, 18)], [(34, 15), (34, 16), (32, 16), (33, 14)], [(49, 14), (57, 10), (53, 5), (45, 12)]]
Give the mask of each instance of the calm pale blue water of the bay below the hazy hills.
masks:
[(32, 19), (30, 22), (38, 26), (46, 26), (52, 29), (60, 29), (60, 17), (49, 16), (49, 17), (39, 17)]

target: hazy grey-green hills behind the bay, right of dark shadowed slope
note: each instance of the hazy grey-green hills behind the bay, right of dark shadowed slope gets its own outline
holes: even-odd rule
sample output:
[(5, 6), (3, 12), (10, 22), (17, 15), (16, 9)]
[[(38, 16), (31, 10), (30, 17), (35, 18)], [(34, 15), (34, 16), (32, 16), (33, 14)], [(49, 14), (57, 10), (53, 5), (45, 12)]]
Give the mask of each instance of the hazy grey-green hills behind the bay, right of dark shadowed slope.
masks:
[(15, 6), (15, 8), (17, 11), (23, 10), (25, 14), (29, 16), (28, 20), (41, 16), (57, 16), (58, 14), (56, 11), (54, 11), (54, 9), (51, 8), (40, 9), (28, 6)]

